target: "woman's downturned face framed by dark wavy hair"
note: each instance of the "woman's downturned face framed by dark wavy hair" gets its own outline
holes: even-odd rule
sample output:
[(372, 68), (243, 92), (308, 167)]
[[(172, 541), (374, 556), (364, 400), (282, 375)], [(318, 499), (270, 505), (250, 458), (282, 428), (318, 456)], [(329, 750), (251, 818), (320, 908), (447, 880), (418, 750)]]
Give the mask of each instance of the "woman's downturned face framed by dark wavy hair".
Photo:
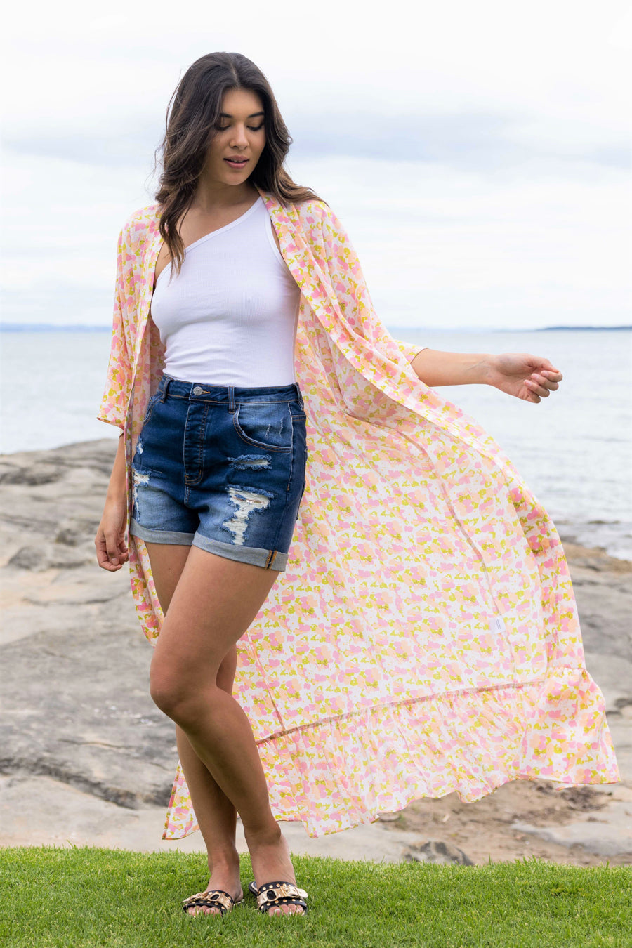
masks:
[[(208, 148), (205, 172), (222, 184), (243, 184), (265, 145), (263, 102), (251, 89), (230, 89), (222, 100), (218, 130)], [(231, 162), (229, 158), (245, 161)]]

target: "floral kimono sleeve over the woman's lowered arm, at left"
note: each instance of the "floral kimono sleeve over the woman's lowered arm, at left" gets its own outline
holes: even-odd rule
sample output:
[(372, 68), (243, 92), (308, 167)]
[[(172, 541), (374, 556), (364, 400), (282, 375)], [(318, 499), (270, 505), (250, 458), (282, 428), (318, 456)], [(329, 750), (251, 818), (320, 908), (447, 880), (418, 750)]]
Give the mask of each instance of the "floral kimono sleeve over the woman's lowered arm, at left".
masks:
[(126, 255), (126, 227), (118, 235), (117, 283), (115, 289), (114, 315), (110, 360), (107, 368), (105, 388), (101, 397), (99, 421), (109, 425), (125, 427), (127, 405), (132, 388), (132, 359), (127, 341), (127, 303), (123, 261)]

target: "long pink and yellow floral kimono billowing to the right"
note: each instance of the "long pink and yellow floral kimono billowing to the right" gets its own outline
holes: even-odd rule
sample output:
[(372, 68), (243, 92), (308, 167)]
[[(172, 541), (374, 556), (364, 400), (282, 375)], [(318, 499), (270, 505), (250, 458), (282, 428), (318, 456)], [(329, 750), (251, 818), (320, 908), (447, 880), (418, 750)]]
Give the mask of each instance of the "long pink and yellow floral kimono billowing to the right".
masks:
[[(551, 518), (490, 435), (417, 377), (421, 347), (381, 323), (332, 210), (285, 209), (259, 191), (301, 290), (308, 447), (287, 568), (237, 644), (233, 689), (276, 818), (316, 837), (423, 796), (619, 781)], [(150, 315), (158, 220), (157, 205), (138, 210), (119, 236), (98, 416), (124, 428), (128, 524), (135, 445), (164, 366)], [(163, 614), (147, 549), (126, 539), (154, 644)], [(162, 838), (196, 829), (178, 761)]]

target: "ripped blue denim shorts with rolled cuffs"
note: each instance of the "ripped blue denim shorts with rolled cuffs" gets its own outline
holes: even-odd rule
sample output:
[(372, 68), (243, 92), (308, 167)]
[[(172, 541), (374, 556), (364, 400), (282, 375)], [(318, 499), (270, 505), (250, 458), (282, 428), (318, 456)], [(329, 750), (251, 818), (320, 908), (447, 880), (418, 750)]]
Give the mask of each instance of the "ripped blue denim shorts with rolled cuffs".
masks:
[(296, 382), (238, 388), (163, 373), (132, 460), (130, 534), (282, 572), (306, 462)]

